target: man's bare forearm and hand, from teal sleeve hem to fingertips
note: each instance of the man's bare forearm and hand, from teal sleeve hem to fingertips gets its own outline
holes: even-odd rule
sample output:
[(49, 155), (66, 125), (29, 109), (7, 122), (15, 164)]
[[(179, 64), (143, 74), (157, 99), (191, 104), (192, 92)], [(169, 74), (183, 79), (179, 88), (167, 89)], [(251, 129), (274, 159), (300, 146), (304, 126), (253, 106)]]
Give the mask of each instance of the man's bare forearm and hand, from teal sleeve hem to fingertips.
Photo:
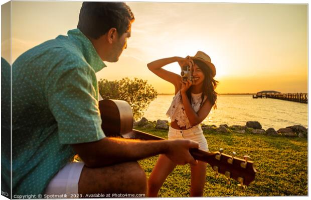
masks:
[(72, 146), (88, 167), (134, 161), (157, 154), (166, 154), (177, 164), (196, 164), (189, 148), (199, 147), (197, 142), (188, 139), (142, 141), (114, 137)]

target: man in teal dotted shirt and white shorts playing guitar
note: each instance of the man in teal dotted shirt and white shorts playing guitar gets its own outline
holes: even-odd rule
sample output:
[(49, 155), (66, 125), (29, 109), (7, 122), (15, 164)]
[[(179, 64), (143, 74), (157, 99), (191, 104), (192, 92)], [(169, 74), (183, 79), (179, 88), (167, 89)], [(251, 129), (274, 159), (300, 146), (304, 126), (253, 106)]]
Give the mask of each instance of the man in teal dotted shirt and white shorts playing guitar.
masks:
[[(194, 141), (125, 140), (105, 137), (101, 129), (95, 72), (106, 66), (103, 61), (118, 60), (133, 21), (125, 3), (83, 2), (77, 29), (15, 61), (13, 198), (145, 193), (145, 173), (136, 160), (166, 154), (178, 164), (196, 163), (189, 153), (198, 147)], [(83, 162), (72, 162), (75, 153)]]

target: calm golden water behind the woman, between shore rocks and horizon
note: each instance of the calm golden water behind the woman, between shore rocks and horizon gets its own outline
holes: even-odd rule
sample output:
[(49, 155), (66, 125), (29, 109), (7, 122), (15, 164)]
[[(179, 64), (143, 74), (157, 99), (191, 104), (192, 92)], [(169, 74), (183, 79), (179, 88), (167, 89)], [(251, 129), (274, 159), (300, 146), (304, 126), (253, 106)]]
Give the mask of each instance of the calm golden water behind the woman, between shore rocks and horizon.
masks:
[[(144, 116), (148, 120), (168, 119), (165, 115), (174, 95), (158, 95)], [(298, 103), (272, 98), (253, 99), (252, 95), (219, 95), (217, 109), (211, 110), (203, 123), (245, 125), (246, 121), (259, 121), (262, 128), (284, 128), (289, 125), (308, 125), (306, 103)]]

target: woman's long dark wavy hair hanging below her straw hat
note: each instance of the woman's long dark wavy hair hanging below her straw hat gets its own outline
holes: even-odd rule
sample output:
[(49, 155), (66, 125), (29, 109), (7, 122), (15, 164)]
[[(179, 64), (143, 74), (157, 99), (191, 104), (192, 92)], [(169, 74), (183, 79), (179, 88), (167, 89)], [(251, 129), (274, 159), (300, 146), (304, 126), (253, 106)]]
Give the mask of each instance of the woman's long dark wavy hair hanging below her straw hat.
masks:
[[(216, 105), (217, 92), (215, 91), (215, 89), (217, 87), (218, 81), (212, 77), (212, 70), (203, 61), (197, 60), (197, 59), (194, 59), (193, 61), (195, 64), (198, 65), (198, 67), (204, 73), (201, 105), (202, 105), (204, 96), (207, 96), (207, 100), (209, 100), (210, 103), (213, 105), (213, 107), (216, 109), (217, 108), (217, 105)], [(191, 89), (187, 90), (187, 96), (188, 96), (189, 101), (191, 102)]]

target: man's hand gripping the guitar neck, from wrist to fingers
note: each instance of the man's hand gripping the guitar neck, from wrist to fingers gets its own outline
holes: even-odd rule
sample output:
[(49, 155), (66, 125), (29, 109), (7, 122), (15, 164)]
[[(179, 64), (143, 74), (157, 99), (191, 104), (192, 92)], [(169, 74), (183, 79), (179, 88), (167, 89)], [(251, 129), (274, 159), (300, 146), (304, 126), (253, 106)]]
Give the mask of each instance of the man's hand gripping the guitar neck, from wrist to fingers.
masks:
[(174, 139), (170, 141), (168, 152), (165, 153), (168, 158), (177, 164), (197, 164), (198, 160), (190, 154), (189, 148), (199, 148), (199, 144), (189, 139)]

